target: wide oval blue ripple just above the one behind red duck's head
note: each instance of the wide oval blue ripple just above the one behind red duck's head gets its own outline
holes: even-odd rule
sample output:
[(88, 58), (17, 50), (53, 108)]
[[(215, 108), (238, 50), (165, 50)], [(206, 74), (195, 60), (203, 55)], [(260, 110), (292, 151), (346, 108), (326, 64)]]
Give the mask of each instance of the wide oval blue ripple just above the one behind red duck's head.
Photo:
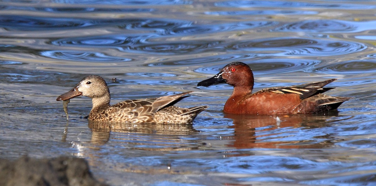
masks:
[[(268, 38), (264, 40), (252, 40), (240, 43), (233, 43), (226, 47), (226, 50), (233, 51), (268, 51), (277, 52), (276, 55), (344, 55), (359, 52), (366, 49), (363, 43), (319, 40), (304, 38)], [(282, 52), (281, 52), (282, 51)]]

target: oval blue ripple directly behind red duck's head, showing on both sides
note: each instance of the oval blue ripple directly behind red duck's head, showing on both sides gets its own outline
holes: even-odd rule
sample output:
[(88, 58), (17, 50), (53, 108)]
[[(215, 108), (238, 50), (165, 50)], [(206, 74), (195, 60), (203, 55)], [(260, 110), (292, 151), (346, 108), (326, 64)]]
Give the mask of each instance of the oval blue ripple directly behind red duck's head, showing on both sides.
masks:
[[(254, 74), (276, 74), (296, 71), (311, 71), (320, 61), (300, 59), (264, 59), (247, 63)], [(226, 64), (213, 65), (211, 67), (197, 68), (196, 72), (204, 74), (217, 74)]]

